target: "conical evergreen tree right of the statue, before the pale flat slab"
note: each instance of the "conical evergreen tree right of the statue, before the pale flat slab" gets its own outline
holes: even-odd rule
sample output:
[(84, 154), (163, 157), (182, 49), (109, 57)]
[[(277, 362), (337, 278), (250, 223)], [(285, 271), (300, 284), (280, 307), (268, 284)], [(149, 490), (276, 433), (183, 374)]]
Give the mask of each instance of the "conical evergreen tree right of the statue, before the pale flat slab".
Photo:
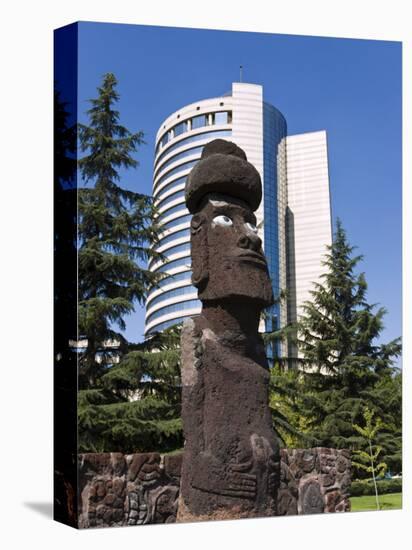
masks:
[[(322, 281), (315, 285), (298, 323), (303, 354), (299, 391), (312, 445), (356, 447), (359, 437), (352, 426), (362, 422), (365, 406), (385, 422), (387, 440), (400, 424), (393, 404), (391, 410), (378, 398), (385, 386), (393, 388), (400, 340), (376, 343), (385, 309), (368, 304), (365, 275), (355, 272), (362, 256), (353, 251), (338, 221)], [(383, 460), (394, 452), (384, 447)]]

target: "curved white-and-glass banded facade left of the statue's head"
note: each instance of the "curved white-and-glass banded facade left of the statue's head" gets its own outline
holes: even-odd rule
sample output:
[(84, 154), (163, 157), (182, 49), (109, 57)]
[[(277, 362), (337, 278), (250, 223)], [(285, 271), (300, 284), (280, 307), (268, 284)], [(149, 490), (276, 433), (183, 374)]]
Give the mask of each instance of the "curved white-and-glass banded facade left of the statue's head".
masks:
[[(182, 172), (190, 172), (193, 166), (199, 161), (204, 144), (199, 145), (199, 142), (205, 143), (216, 138), (230, 138), (232, 135), (231, 128), (228, 126), (232, 122), (232, 110), (230, 107), (225, 108), (223, 106), (222, 98), (216, 99), (216, 104), (213, 108), (207, 109), (207, 112), (198, 112), (198, 108), (202, 108), (202, 102), (193, 105), (192, 110), (186, 110), (184, 120), (176, 122), (176, 117), (169, 117), (167, 121), (161, 126), (162, 131), (159, 132), (158, 142), (156, 146), (155, 157), (155, 172), (153, 182), (153, 197), (158, 209), (162, 209), (162, 212), (158, 215), (158, 223), (161, 227), (161, 231), (169, 230), (182, 224), (187, 224), (191, 220), (191, 215), (186, 209), (184, 202), (184, 186), (186, 183), (187, 175), (181, 175)], [(230, 101), (226, 101), (226, 104)], [(186, 114), (187, 113), (187, 114)], [(178, 118), (181, 115), (178, 115)], [(174, 121), (172, 122), (172, 120)], [(222, 129), (218, 129), (221, 126)], [(226, 126), (226, 128), (224, 128)], [(188, 132), (198, 132), (194, 135), (188, 134)], [(193, 147), (190, 145), (193, 144)], [(187, 149), (189, 147), (189, 149)], [(182, 150), (185, 149), (185, 150)], [(193, 159), (193, 157), (197, 157)], [(186, 161), (185, 159), (192, 157), (192, 160)], [(173, 166), (176, 163), (178, 166)], [(171, 181), (168, 181), (171, 179)], [(178, 201), (178, 204), (173, 204)], [(167, 206), (171, 204), (170, 208)], [(163, 210), (166, 208), (166, 210)], [(169, 216), (177, 216), (174, 219), (167, 221)], [(166, 222), (164, 222), (166, 220)], [(164, 260), (161, 264), (151, 262), (149, 269), (156, 271), (157, 273), (168, 274), (160, 282), (155, 285), (147, 298), (147, 316), (146, 326), (150, 325), (146, 331), (146, 334), (163, 330), (177, 322), (183, 321), (185, 315), (182, 312), (185, 309), (200, 308), (200, 302), (198, 300), (185, 300), (185, 297), (189, 294), (195, 294), (196, 289), (191, 284), (191, 271), (190, 271), (190, 229), (185, 227), (178, 229), (170, 235), (162, 237), (157, 248), (164, 247), (169, 243), (177, 239), (184, 239), (170, 248), (163, 250)], [(174, 254), (185, 253), (185, 256), (176, 260), (170, 260)], [(170, 271), (174, 269), (184, 269), (184, 271), (170, 275)], [(187, 285), (173, 288), (173, 284), (184, 284), (187, 281)], [(152, 295), (158, 292), (159, 288), (168, 286), (169, 288), (161, 294)], [(181, 298), (181, 299), (179, 299)], [(176, 301), (178, 300), (179, 301)], [(170, 304), (169, 301), (175, 301)], [(153, 306), (160, 307), (155, 312), (151, 313), (150, 309)], [(168, 321), (160, 323), (154, 322), (156, 319), (160, 319), (164, 315), (173, 315), (175, 317)]]

